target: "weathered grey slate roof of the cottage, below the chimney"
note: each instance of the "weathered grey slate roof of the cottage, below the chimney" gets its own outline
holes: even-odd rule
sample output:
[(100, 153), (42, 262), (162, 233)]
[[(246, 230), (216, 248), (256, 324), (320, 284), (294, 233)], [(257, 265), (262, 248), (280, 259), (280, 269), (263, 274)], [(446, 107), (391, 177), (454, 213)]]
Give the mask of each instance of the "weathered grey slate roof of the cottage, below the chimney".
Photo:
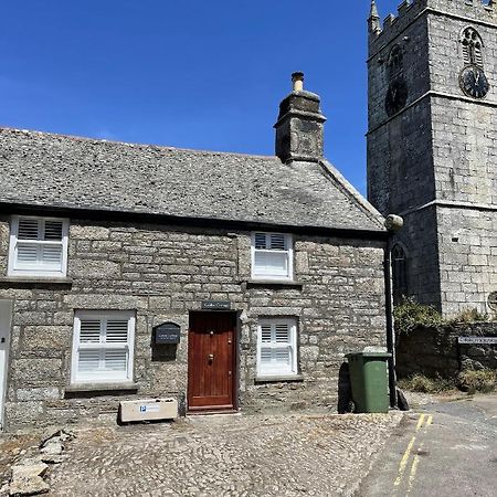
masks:
[(328, 162), (0, 128), (0, 203), (384, 231)]

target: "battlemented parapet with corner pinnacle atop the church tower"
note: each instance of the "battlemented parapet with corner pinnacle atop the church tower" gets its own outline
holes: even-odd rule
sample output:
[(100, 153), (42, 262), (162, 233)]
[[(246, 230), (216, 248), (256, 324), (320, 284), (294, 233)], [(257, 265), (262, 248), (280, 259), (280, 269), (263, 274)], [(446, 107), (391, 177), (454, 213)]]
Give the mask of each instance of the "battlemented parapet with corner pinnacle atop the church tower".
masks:
[(424, 11), (461, 15), (474, 19), (475, 22), (497, 23), (496, 0), (404, 0), (399, 6), (396, 15), (390, 13), (383, 22), (378, 14), (380, 2), (371, 1), (368, 19), (370, 55), (401, 34)]

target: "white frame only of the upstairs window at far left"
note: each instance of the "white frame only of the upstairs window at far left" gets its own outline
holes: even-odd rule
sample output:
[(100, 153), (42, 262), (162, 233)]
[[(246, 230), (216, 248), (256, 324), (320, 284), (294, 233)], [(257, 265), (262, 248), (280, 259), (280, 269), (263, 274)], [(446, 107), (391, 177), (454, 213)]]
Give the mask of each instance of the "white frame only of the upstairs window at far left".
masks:
[[(22, 243), (30, 243), (33, 245), (62, 245), (62, 262), (61, 271), (44, 269), (43, 265), (39, 267), (22, 267), (18, 264), (18, 234), (19, 234), (19, 221), (21, 219), (31, 219), (40, 221), (61, 221), (62, 222), (62, 240), (59, 241), (22, 241)], [(12, 216), (10, 224), (10, 243), (9, 243), (9, 263), (8, 263), (8, 276), (35, 276), (35, 277), (65, 277), (67, 275), (67, 247), (68, 247), (68, 225), (67, 219), (60, 218), (44, 218), (35, 215), (14, 215)]]

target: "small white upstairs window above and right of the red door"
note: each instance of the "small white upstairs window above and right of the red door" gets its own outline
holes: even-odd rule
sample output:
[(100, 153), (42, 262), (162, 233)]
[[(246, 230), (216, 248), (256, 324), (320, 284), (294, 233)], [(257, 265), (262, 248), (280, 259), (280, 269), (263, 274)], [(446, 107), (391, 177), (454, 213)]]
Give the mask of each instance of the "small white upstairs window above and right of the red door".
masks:
[(255, 279), (293, 279), (292, 235), (262, 232), (252, 234), (252, 277)]

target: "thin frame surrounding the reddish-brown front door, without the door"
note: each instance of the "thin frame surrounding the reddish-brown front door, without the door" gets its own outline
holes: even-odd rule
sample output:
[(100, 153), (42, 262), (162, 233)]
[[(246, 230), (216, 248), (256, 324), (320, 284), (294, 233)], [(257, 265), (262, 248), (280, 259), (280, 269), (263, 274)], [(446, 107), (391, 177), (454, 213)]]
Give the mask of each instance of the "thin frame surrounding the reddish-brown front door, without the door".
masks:
[[(200, 414), (220, 414), (225, 413), (223, 409), (190, 409), (188, 404), (189, 387), (190, 387), (190, 321), (192, 314), (231, 314), (235, 318), (235, 327), (233, 334), (233, 381), (232, 381), (232, 396), (233, 396), (233, 412), (239, 411), (240, 405), (240, 311), (239, 310), (190, 310), (188, 313), (188, 353), (187, 353), (187, 414), (200, 415)], [(228, 412), (232, 412), (231, 410)]]

